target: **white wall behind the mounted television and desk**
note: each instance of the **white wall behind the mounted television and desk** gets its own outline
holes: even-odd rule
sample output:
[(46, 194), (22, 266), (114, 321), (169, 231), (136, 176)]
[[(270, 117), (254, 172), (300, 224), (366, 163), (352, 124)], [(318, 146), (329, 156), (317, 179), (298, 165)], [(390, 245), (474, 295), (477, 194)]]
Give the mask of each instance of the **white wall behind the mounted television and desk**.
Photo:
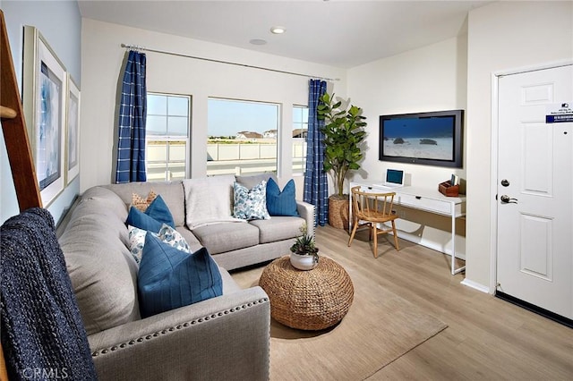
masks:
[[(348, 94), (363, 108), (368, 136), (366, 154), (354, 180), (381, 180), (388, 167), (403, 169), (416, 187), (438, 189), (452, 173), (466, 178), (464, 168), (389, 163), (378, 160), (379, 116), (426, 111), (466, 109), (467, 36), (449, 38), (428, 47), (367, 63), (348, 71)], [(464, 154), (465, 157), (465, 154)], [(410, 240), (437, 250), (449, 250), (451, 221), (414, 209), (399, 212), (398, 229)], [(458, 221), (457, 251), (464, 256), (464, 220)], [(402, 233), (398, 233), (400, 235)], [(406, 236), (405, 234), (402, 234)]]

